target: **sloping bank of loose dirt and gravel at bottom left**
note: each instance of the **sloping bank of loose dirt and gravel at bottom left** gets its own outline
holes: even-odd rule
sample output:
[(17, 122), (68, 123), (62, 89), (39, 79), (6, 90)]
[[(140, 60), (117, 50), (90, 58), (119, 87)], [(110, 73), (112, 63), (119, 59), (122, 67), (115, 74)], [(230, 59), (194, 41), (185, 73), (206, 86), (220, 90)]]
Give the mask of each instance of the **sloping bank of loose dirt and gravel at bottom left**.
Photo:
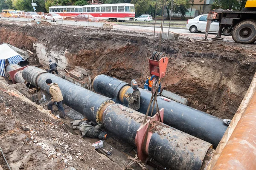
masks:
[[(12, 170), (121, 169), (4, 80), (0, 87), (0, 146)], [(0, 154), (1, 167), (8, 169)]]

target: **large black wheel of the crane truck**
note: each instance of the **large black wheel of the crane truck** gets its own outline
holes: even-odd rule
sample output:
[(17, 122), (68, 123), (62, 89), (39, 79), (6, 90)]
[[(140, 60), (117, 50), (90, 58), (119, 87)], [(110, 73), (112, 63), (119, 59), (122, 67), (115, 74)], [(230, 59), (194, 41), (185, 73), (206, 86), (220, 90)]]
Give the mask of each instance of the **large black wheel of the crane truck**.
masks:
[(235, 42), (251, 44), (256, 41), (256, 21), (244, 20), (237, 23), (232, 31), (232, 38)]

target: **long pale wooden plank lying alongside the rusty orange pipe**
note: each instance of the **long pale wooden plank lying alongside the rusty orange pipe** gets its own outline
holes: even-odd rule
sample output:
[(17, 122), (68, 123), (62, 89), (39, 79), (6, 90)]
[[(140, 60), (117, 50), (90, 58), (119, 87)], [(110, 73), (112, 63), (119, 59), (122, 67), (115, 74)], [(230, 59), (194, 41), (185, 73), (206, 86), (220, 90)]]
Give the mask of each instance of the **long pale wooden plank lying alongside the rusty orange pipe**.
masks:
[(215, 153), (212, 157), (212, 161), (210, 161), (209, 165), (205, 168), (205, 170), (212, 170), (214, 165), (216, 164), (222, 150), (227, 144), (227, 141), (230, 139), (230, 136), (232, 135), (237, 123), (241, 119), (241, 116), (244, 113), (244, 110), (247, 108), (248, 103), (250, 102), (250, 99), (252, 98), (254, 92), (256, 91), (256, 73), (254, 74), (253, 80), (250, 84), (250, 87), (248, 88), (244, 99), (242, 100), (238, 110), (236, 111), (235, 116), (233, 117), (229, 127), (227, 128), (226, 132), (224, 133), (224, 136), (221, 139), (221, 142), (218, 144)]

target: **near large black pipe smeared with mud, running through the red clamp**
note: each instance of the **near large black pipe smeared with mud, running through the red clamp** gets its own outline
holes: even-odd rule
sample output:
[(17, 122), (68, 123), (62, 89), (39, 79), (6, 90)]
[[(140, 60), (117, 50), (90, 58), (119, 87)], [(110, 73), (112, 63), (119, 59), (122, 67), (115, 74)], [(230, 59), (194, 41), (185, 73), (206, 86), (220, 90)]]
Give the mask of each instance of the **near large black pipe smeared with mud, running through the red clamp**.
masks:
[[(26, 81), (31, 81), (32, 85), (48, 93), (49, 86), (45, 80), (52, 79), (52, 82), (58, 83), (66, 105), (91, 121), (102, 123), (108, 131), (137, 146), (135, 139), (138, 137), (137, 130), (145, 118), (144, 114), (137, 111), (133, 113), (122, 111), (119, 104), (112, 99), (93, 93), (34, 66), (26, 67), (22, 75)], [(143, 153), (174, 170), (200, 170), (212, 145), (163, 123), (157, 122), (157, 125), (154, 123), (150, 124), (148, 137), (144, 139), (146, 146), (143, 147)]]

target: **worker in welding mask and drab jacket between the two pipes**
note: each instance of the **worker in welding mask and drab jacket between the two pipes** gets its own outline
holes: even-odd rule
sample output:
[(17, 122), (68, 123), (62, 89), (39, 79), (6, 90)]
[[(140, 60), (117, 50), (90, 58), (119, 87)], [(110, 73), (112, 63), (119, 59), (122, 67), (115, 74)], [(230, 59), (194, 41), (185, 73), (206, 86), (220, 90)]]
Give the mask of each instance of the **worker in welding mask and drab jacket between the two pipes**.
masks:
[(132, 94), (128, 93), (125, 97), (129, 102), (129, 108), (137, 111), (140, 109), (140, 91), (135, 79), (131, 80), (131, 87), (133, 88)]

